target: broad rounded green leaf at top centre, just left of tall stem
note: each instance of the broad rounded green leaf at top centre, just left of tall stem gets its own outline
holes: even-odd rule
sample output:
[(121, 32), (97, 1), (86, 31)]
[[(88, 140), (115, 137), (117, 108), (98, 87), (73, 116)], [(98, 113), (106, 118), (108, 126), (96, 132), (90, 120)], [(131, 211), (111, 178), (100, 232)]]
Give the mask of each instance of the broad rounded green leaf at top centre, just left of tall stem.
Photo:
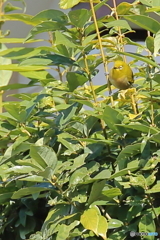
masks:
[(70, 11), (68, 15), (72, 25), (78, 28), (83, 28), (90, 18), (90, 13), (87, 9)]

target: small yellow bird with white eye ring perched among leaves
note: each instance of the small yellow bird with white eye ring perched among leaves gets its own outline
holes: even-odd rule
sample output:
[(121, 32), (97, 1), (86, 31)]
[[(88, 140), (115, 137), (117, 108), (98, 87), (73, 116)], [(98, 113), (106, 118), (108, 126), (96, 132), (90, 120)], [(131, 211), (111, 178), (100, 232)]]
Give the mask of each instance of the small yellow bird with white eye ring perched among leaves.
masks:
[(115, 61), (114, 67), (109, 72), (109, 81), (113, 86), (121, 90), (132, 87), (134, 78), (130, 66), (123, 61)]

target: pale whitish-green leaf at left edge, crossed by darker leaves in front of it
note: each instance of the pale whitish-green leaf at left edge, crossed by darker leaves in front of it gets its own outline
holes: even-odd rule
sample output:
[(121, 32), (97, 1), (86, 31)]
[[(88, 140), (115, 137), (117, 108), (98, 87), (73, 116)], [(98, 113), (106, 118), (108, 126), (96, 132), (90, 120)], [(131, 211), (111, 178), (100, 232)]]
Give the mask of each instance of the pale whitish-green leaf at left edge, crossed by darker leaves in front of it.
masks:
[[(0, 44), (0, 53), (6, 50), (7, 47), (4, 44)], [(10, 59), (6, 59), (4, 57), (0, 57), (0, 65), (8, 65), (11, 64)], [(6, 86), (9, 83), (9, 80), (12, 76), (12, 71), (9, 70), (0, 70), (0, 86)]]

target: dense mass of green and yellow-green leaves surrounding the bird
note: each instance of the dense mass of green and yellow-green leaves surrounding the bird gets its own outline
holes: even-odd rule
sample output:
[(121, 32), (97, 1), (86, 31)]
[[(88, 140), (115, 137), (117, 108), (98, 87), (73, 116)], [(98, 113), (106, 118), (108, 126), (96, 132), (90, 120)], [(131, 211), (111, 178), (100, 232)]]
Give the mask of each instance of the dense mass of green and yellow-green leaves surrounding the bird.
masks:
[[(118, 18), (98, 19), (102, 42), (93, 11), (50, 9), (30, 16), (8, 13), (16, 7), (4, 4), (3, 23), (22, 21), (32, 29), (26, 39), (1, 32), (1, 93), (37, 85), (42, 91), (14, 94), (17, 101), (3, 103), (0, 114), (2, 240), (122, 240), (131, 231), (159, 232), (160, 23), (149, 14), (159, 16), (157, 2), (123, 2), (114, 9)], [(130, 22), (151, 32), (145, 45), (127, 37)], [(40, 41), (37, 35), (45, 32), (48, 46), (4, 45)], [(92, 82), (105, 65), (101, 43), (105, 62), (130, 56), (137, 69), (136, 87), (113, 99), (106, 84)], [(125, 45), (137, 52), (124, 52)], [(29, 83), (9, 84), (11, 71)]]

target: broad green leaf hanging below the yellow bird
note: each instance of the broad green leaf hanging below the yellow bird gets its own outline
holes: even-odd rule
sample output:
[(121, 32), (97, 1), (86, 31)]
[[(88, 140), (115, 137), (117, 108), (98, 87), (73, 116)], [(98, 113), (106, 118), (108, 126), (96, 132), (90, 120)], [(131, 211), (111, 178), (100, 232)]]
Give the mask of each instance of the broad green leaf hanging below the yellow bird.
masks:
[(118, 134), (123, 134), (123, 131), (116, 125), (120, 124), (123, 120), (123, 115), (117, 110), (113, 109), (110, 106), (106, 106), (103, 113), (103, 120), (108, 125), (110, 129)]

